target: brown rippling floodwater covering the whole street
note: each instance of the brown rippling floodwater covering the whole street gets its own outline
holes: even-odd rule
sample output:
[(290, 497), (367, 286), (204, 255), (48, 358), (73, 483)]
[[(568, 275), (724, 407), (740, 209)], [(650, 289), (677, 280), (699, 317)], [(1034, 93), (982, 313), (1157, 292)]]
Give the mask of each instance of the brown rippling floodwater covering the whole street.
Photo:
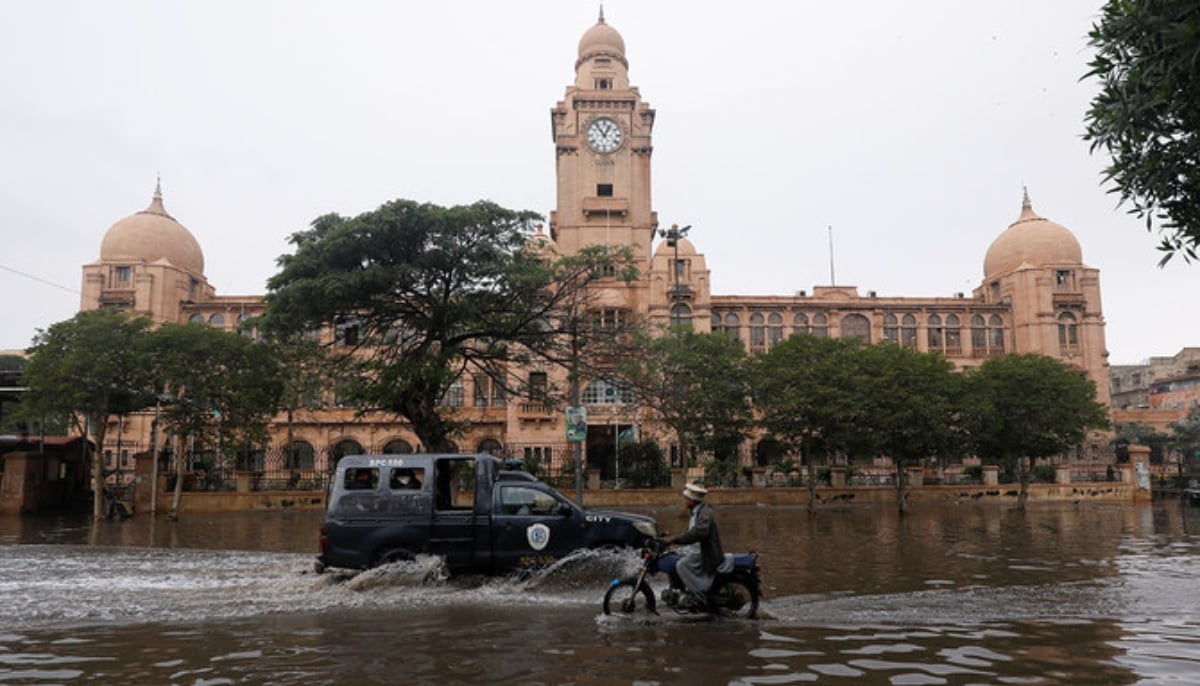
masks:
[(605, 616), (632, 554), (316, 574), (319, 517), (0, 518), (0, 684), (1200, 682), (1178, 503), (719, 509), (762, 555), (758, 620)]

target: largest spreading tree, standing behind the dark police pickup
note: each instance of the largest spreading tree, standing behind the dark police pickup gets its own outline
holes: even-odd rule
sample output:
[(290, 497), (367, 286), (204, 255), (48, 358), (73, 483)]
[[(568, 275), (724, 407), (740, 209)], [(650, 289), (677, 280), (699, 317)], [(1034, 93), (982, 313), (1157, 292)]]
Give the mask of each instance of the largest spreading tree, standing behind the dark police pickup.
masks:
[(580, 293), (624, 273), (613, 264), (620, 251), (554, 259), (535, 249), (538, 218), (488, 201), (412, 200), (319, 217), (292, 235), (260, 324), (275, 336), (334, 326), (348, 399), (407, 419), (425, 450), (444, 450), (458, 423), (442, 399), (457, 379), (511, 386), (514, 362), (568, 366), (564, 333), (587, 309)]

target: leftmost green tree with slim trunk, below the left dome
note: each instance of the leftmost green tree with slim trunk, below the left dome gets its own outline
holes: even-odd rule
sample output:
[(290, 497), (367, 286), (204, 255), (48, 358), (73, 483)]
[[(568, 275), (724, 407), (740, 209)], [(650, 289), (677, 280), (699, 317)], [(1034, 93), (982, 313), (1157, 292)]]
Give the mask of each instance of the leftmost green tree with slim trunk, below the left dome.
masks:
[(92, 507), (104, 512), (104, 437), (109, 419), (154, 404), (154, 383), (146, 363), (150, 320), (116, 309), (92, 309), (38, 331), (29, 349), (22, 383), (29, 387), (20, 415), (28, 420), (70, 417), (80, 434), (91, 435)]

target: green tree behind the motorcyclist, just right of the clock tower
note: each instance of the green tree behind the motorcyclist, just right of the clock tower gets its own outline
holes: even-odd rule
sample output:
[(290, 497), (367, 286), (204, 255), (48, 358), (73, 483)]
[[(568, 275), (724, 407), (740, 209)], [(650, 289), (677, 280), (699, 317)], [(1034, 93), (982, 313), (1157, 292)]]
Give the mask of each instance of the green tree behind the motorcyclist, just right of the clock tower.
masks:
[(646, 336), (623, 372), (640, 402), (674, 431), (682, 459), (707, 455), (721, 473), (737, 464), (738, 446), (754, 422), (748, 357), (740, 341), (691, 331)]

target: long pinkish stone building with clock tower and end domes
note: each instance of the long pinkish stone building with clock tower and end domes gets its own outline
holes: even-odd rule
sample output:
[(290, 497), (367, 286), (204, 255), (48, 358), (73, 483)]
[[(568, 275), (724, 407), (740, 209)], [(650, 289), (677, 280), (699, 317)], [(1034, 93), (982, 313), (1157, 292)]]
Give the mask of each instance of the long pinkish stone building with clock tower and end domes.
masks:
[[(1084, 264), (1075, 236), (1038, 216), (1027, 195), (1019, 207), (1014, 198), (1016, 221), (988, 248), (982, 279), (971, 294), (890, 297), (860, 294), (852, 285), (816, 285), (811, 293), (776, 296), (713, 294), (704, 255), (686, 237), (686, 228), (659, 225), (650, 193), (655, 110), (630, 84), (624, 40), (602, 14), (578, 43), (575, 73), (550, 110), (557, 200), (548, 233), (539, 231), (533, 240), (559, 254), (589, 245), (634, 251), (642, 276), (606, 288), (598, 305), (600, 321), (690, 323), (697, 331), (727, 331), (751, 353), (797, 332), (894, 341), (941, 351), (960, 368), (1007, 353), (1040, 353), (1087, 374), (1100, 399), (1109, 401), (1099, 271)], [(106, 306), (156, 321), (197, 321), (234, 331), (260, 311), (262, 297), (217, 294), (204, 276), (199, 241), (167, 212), (156, 188), (145, 210), (108, 229), (100, 258), (83, 267), (83, 308)], [(334, 331), (328, 336), (336, 339)], [(529, 369), (530, 386), (544, 385), (556, 373)], [(592, 464), (611, 465), (616, 437), (635, 425), (665, 446), (672, 443), (619, 383), (593, 380), (582, 402), (590, 420), (586, 450)], [(469, 422), (458, 437), (461, 450), (556, 463), (570, 455), (560, 408), (505, 397), (485, 378), (461, 379), (445, 403), (460, 408)], [(284, 459), (286, 433), (282, 425), (276, 429), (274, 450), (263, 457), (268, 463)], [(332, 404), (298, 414), (292, 431), (301, 457), (289, 467), (318, 471), (340, 455), (421, 447), (395, 417), (355, 417), (353, 409)], [(144, 447), (149, 420), (133, 417), (124, 432), (131, 450)], [(108, 435), (118, 437), (116, 427)], [(1093, 452), (1097, 446), (1091, 446)], [(745, 462), (766, 458), (766, 450), (745, 446)]]

